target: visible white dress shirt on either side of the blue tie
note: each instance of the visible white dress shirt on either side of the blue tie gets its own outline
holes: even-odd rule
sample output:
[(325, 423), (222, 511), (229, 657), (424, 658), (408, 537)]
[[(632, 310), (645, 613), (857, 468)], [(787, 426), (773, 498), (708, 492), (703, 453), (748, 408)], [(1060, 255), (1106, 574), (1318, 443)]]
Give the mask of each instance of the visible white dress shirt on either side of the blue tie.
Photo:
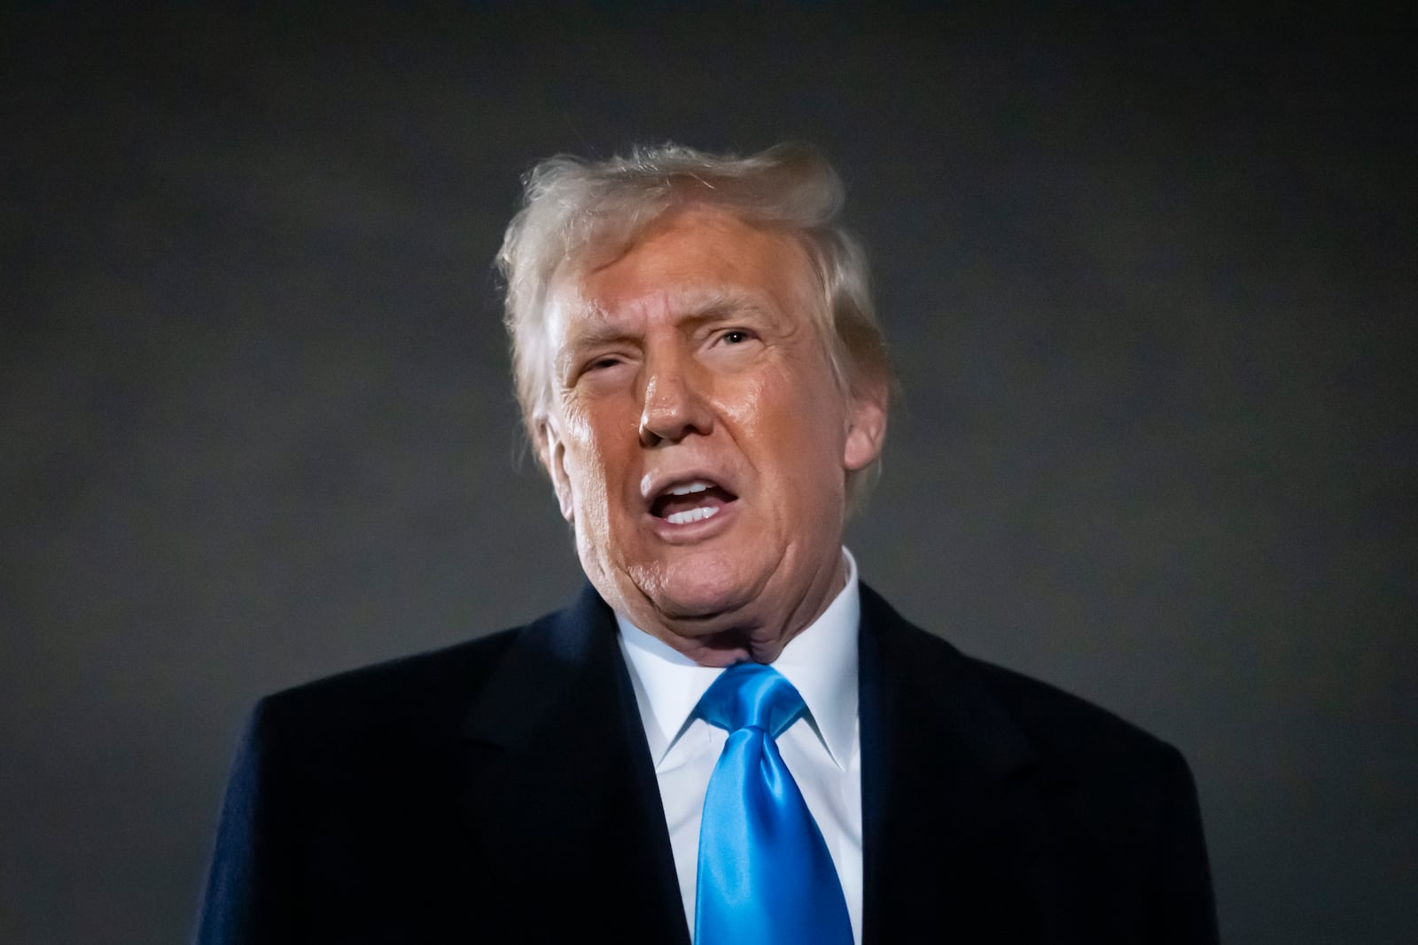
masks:
[[(847, 897), (852, 939), (862, 941), (862, 772), (856, 724), (856, 625), (861, 598), (856, 561), (842, 548), (847, 587), (773, 663), (797, 687), (807, 714), (778, 735), (778, 751), (803, 791), (832, 854)], [(702, 718), (695, 706), (722, 669), (699, 666), (621, 615), (621, 652), (630, 667), (649, 757), (655, 762), (675, 853), (679, 894), (691, 934), (705, 789), (729, 734)]]

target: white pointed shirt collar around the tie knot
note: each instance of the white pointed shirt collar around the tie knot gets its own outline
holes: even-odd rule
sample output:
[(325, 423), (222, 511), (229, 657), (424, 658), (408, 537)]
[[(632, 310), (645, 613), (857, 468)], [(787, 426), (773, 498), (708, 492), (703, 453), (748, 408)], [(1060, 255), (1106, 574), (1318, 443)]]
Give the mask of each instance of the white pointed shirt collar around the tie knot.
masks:
[[(847, 769), (856, 738), (856, 628), (861, 594), (856, 561), (847, 561), (844, 587), (822, 615), (788, 640), (773, 667), (803, 696), (811, 724), (838, 768)], [(664, 640), (640, 629), (621, 613), (621, 652), (631, 670), (635, 700), (645, 727), (649, 755), (658, 765), (693, 721), (692, 713), (719, 673), (699, 666)]]

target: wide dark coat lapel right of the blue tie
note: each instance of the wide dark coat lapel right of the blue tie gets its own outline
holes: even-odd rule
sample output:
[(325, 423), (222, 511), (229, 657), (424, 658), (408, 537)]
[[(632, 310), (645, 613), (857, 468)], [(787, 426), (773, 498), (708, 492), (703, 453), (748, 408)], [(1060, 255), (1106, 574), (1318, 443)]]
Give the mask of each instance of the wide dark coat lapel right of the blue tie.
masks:
[(1032, 747), (973, 662), (862, 587), (864, 938), (1048, 938)]

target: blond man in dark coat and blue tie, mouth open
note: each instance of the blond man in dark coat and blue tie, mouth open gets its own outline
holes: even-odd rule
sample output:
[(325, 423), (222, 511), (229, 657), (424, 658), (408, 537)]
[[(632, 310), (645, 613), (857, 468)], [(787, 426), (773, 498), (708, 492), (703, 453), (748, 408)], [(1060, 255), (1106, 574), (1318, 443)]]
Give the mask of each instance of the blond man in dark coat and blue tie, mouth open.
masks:
[(858, 584), (892, 381), (839, 205), (800, 146), (529, 176), (516, 385), (590, 587), (262, 700), (199, 941), (1215, 941), (1181, 757)]

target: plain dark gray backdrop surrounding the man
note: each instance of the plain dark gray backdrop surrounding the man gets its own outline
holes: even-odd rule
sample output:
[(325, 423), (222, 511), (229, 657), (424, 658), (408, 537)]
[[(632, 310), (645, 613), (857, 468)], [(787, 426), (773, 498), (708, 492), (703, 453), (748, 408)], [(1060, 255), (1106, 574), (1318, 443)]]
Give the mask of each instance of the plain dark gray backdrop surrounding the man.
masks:
[(1411, 10), (0, 37), (4, 942), (183, 938), (255, 697), (579, 587), (506, 380), (518, 176), (784, 137), (905, 385), (865, 578), (1181, 747), (1227, 939), (1418, 934)]

